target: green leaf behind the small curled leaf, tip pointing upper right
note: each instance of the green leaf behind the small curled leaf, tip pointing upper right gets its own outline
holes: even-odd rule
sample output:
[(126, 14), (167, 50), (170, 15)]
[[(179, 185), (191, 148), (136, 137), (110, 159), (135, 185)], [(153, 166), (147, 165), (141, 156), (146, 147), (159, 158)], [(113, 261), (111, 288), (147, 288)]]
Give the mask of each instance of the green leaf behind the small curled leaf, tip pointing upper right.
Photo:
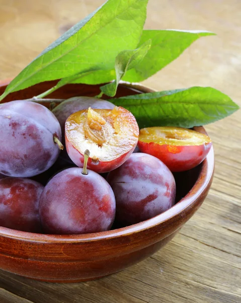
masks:
[(207, 31), (144, 30), (139, 44), (151, 39), (151, 47), (140, 64), (129, 70), (123, 80), (143, 81), (178, 58), (195, 40), (214, 35)]

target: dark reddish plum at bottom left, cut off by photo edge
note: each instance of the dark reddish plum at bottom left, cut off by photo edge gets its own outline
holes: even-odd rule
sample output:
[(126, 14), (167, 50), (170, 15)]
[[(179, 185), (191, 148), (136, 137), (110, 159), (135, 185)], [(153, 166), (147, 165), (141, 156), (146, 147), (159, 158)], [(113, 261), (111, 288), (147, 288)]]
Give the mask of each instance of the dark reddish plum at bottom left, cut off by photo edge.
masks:
[(0, 180), (0, 225), (28, 232), (41, 232), (39, 199), (44, 186), (27, 179)]

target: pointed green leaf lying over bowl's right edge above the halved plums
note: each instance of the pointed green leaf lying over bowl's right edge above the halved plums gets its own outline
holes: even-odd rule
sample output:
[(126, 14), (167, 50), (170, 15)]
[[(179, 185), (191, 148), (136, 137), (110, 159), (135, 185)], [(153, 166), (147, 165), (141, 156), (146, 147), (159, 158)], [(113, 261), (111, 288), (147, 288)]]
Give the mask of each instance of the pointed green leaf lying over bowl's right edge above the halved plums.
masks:
[(142, 93), (110, 101), (129, 110), (140, 128), (149, 126), (191, 128), (220, 120), (239, 108), (221, 91), (198, 86)]

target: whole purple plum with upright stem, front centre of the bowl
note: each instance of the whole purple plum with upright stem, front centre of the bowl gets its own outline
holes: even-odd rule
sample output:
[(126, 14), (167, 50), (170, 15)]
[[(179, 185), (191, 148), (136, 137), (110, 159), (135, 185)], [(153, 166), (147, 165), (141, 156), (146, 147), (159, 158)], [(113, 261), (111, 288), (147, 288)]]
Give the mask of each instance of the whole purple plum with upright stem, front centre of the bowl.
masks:
[(99, 174), (69, 168), (55, 175), (40, 197), (39, 214), (49, 234), (82, 234), (109, 230), (115, 218), (115, 196)]

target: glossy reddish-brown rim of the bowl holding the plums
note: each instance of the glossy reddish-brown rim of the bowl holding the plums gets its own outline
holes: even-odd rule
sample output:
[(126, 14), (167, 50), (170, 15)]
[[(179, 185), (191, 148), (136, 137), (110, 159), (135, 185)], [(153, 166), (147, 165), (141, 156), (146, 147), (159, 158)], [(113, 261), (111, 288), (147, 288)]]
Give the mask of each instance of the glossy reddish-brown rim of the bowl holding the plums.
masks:
[[(0, 87), (8, 85), (9, 83), (9, 79), (0, 81)], [(130, 87), (138, 92), (156, 91), (140, 83), (120, 81), (120, 85)], [(205, 132), (205, 129), (202, 126), (194, 127), (194, 129), (197, 131)], [(117, 238), (121, 236), (128, 236), (130, 234), (138, 233), (143, 230), (153, 228), (157, 225), (162, 225), (171, 218), (174, 219), (175, 217), (178, 217), (180, 215), (182, 216), (182, 213), (184, 213), (185, 210), (195, 205), (195, 203), (198, 201), (198, 198), (202, 196), (202, 194), (210, 185), (214, 173), (213, 146), (211, 147), (206, 159), (200, 165), (201, 169), (197, 181), (195, 182), (191, 190), (180, 201), (178, 201), (172, 208), (163, 212), (162, 214), (159, 214), (153, 218), (142, 221), (140, 223), (114, 230), (79, 235), (37, 234), (0, 226), (0, 236), (33, 242), (89, 242)]]

